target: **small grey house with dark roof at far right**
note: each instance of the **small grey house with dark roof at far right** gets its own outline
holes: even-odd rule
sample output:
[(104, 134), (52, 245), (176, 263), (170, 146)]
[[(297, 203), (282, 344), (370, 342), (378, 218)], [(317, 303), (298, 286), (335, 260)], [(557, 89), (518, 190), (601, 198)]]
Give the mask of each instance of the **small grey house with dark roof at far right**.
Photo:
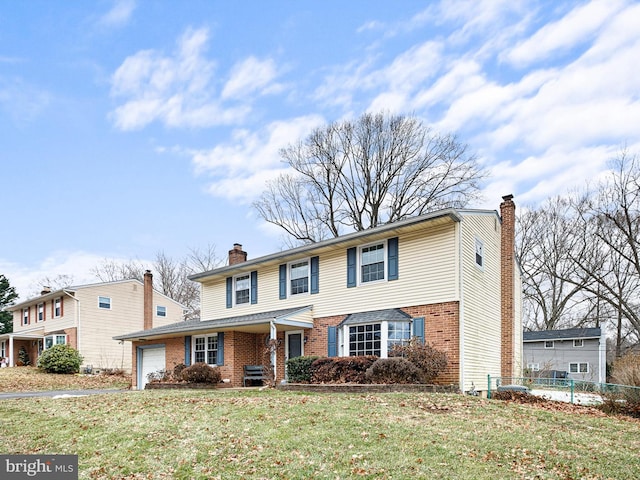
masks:
[(524, 366), (532, 375), (555, 370), (574, 380), (605, 383), (606, 343), (600, 328), (524, 332)]

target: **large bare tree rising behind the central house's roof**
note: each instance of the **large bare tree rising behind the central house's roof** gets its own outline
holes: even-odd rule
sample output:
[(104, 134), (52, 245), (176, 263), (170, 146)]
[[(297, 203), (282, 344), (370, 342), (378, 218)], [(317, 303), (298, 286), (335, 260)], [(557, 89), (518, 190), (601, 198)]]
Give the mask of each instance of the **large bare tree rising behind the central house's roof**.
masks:
[(280, 155), (292, 173), (270, 182), (254, 206), (301, 243), (465, 206), (487, 176), (455, 136), (403, 115), (331, 123)]

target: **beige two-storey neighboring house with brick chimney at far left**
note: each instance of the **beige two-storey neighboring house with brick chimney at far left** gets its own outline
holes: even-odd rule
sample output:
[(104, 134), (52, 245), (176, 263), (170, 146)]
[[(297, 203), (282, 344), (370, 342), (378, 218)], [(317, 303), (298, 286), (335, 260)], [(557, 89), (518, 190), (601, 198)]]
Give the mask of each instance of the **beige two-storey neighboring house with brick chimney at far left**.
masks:
[(11, 306), (13, 333), (0, 335), (0, 355), (10, 366), (20, 364), (20, 350), (37, 364), (43, 350), (69, 344), (83, 357), (83, 368), (131, 371), (131, 344), (115, 335), (140, 328), (173, 324), (184, 307), (152, 287), (147, 271), (139, 280), (44, 289), (39, 297)]

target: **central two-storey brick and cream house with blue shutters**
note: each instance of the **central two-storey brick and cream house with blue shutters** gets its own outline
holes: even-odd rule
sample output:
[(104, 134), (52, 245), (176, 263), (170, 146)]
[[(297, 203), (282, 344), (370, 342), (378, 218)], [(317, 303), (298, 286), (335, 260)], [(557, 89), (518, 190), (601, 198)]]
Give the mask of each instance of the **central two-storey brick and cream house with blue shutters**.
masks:
[(386, 357), (417, 336), (448, 355), (439, 383), (481, 389), (487, 374), (521, 375), (514, 223), (508, 195), (501, 215), (444, 209), (251, 260), (235, 244), (228, 266), (191, 277), (200, 320), (115, 338), (133, 342), (138, 388), (154, 370), (202, 361), (242, 386), (270, 343), (281, 382), (289, 358)]

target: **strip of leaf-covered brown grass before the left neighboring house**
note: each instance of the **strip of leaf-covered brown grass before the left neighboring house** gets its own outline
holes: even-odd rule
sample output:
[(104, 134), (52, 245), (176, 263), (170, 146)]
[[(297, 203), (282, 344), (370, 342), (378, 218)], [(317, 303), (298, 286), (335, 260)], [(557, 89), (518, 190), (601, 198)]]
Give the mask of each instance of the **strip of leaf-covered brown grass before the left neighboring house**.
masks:
[(129, 375), (44, 373), (35, 367), (0, 369), (0, 392), (129, 388)]

